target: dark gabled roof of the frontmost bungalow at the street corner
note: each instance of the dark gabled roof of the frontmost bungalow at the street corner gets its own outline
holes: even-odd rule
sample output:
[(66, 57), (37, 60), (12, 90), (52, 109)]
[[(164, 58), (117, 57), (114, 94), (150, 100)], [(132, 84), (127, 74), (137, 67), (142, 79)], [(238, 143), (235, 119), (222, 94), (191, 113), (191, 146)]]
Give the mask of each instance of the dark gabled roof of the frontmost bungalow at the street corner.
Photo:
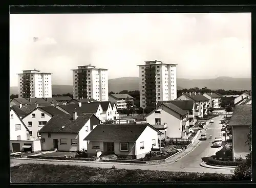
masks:
[(97, 125), (93, 131), (83, 140), (103, 142), (135, 142), (147, 126), (150, 126), (158, 134), (162, 132), (150, 124), (110, 124)]

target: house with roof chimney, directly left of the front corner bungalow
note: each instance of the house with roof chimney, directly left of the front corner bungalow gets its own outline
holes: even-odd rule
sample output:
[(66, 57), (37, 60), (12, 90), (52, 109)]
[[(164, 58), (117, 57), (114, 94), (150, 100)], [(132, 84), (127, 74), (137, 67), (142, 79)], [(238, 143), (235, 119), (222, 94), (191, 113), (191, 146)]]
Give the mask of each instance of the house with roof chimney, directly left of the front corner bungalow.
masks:
[(55, 115), (41, 128), (41, 148), (43, 151), (52, 148), (58, 151), (87, 150), (85, 137), (100, 124), (100, 120), (94, 114)]

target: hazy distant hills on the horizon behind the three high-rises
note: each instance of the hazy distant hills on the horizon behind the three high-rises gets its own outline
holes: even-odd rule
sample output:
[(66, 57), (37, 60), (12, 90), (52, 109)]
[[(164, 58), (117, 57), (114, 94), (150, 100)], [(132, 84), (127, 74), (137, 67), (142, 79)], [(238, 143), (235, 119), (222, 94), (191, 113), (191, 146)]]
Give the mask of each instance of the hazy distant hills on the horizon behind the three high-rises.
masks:
[[(251, 90), (250, 78), (231, 78), (218, 77), (216, 79), (177, 79), (177, 89), (206, 86), (209, 89), (225, 89), (225, 90)], [(139, 90), (139, 77), (122, 77), (109, 80), (109, 92), (120, 92), (122, 90)], [(52, 85), (52, 94), (73, 93), (72, 85)], [(10, 93), (17, 94), (18, 87), (10, 87)]]

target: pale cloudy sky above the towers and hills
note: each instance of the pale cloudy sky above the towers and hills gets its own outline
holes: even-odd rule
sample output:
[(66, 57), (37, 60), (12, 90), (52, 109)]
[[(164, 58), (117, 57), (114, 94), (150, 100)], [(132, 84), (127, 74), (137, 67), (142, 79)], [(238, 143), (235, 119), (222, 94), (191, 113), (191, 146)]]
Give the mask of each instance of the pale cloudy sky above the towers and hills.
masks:
[(156, 59), (178, 64), (177, 78), (251, 77), (251, 15), (10, 15), (11, 86), (33, 68), (72, 85), (70, 69), (87, 64), (108, 68), (109, 79), (137, 77), (136, 65)]

